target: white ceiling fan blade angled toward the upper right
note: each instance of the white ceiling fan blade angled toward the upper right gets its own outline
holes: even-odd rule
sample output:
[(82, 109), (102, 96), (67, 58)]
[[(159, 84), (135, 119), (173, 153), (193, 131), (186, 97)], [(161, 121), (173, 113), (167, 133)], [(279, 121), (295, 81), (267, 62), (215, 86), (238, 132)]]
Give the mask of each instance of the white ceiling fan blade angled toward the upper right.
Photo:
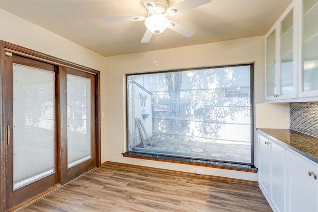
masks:
[(176, 15), (181, 12), (193, 9), (195, 7), (201, 6), (203, 4), (209, 3), (212, 0), (183, 0), (169, 8), (167, 8), (168, 15)]

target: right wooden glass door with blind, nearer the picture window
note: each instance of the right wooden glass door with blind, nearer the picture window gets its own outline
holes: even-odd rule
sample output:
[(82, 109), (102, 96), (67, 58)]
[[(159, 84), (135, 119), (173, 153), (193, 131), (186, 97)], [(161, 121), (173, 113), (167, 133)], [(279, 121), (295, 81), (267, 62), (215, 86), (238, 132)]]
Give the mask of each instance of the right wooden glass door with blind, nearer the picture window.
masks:
[(67, 68), (68, 181), (96, 166), (95, 75)]

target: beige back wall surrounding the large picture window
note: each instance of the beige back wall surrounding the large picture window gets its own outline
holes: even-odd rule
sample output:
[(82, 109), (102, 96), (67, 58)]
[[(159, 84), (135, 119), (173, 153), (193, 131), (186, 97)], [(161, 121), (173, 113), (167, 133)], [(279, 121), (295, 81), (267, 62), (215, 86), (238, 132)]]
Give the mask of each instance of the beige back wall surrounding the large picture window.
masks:
[[(154, 64), (154, 52), (106, 58), (108, 79), (106, 85), (108, 101), (106, 113), (108, 126), (107, 160), (192, 172), (194, 166), (190, 165), (127, 158), (121, 155), (122, 152), (126, 151), (125, 74), (254, 62), (254, 101), (256, 104), (265, 105), (264, 107), (256, 107), (256, 109), (260, 111), (260, 114), (262, 114), (262, 110), (267, 108), (266, 104), (264, 104), (264, 37), (244, 38), (226, 42), (161, 50), (157, 53), (157, 55), (158, 57), (156, 60), (159, 64), (158, 68)], [(286, 113), (287, 108), (288, 107), (286, 107), (285, 111), (280, 110), (280, 112)], [(269, 110), (275, 111), (275, 106), (269, 107)], [(282, 114), (284, 117), (286, 115), (288, 114)], [(270, 119), (269, 116), (262, 116), (262, 119)], [(280, 123), (278, 123), (277, 126), (279, 127), (280, 125), (284, 125), (285, 121), (280, 120)], [(265, 125), (266, 122), (267, 121), (257, 120), (256, 123), (259, 127), (262, 127), (267, 126)], [(257, 180), (257, 175), (254, 173), (214, 168), (204, 169), (206, 174), (209, 175)]]

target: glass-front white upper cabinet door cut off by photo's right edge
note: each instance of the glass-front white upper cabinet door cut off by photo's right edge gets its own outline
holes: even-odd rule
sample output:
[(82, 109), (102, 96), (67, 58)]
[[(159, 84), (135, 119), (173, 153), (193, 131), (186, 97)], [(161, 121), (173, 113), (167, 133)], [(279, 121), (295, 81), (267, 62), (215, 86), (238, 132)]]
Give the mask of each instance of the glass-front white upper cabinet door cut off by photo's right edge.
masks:
[(318, 0), (303, 0), (300, 97), (318, 96)]

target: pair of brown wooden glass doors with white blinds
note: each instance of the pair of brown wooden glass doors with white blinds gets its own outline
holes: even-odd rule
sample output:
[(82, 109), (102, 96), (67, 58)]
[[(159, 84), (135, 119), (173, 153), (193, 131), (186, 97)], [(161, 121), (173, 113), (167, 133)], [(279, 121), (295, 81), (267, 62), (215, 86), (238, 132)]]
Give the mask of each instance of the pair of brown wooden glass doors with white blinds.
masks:
[(7, 56), (6, 210), (96, 166), (95, 75)]

